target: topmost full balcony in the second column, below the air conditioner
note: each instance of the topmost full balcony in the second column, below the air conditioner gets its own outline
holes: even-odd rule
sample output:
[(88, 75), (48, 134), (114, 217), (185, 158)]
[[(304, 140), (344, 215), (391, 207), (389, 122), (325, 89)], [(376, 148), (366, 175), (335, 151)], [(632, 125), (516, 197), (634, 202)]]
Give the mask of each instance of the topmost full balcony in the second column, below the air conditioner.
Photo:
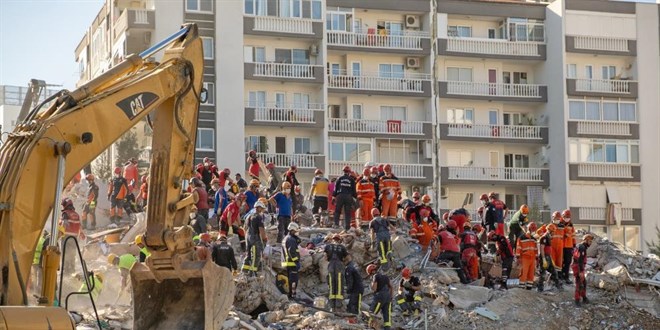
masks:
[(370, 29), (367, 33), (363, 31), (328, 31), (328, 49), (423, 56), (428, 55), (431, 50), (431, 39), (429, 39), (428, 32), (381, 35), (376, 33), (376, 29)]

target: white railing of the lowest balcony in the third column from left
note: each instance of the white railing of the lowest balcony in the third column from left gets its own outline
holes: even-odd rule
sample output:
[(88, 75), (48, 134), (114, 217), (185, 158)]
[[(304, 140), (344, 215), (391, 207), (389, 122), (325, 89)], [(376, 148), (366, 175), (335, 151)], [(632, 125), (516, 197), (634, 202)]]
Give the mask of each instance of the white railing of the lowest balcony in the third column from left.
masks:
[(540, 168), (449, 166), (449, 180), (543, 182)]

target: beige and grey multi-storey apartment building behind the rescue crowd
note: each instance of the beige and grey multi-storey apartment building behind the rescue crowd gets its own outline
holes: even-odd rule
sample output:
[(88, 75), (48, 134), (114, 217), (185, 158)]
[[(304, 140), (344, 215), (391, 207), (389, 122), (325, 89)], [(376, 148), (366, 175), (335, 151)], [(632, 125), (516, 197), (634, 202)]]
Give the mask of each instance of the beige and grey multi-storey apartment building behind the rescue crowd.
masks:
[[(297, 165), (303, 189), (316, 168), (332, 177), (344, 165), (391, 163), (406, 194), (429, 193), (440, 209), (475, 209), (481, 193), (497, 191), (510, 208), (528, 204), (541, 219), (570, 207), (578, 226), (637, 250), (654, 236), (656, 4), (192, 0), (106, 7), (106, 25), (97, 18), (76, 51), (87, 79), (179, 23), (200, 26), (209, 99), (200, 108), (197, 158), (244, 171), (254, 149), (280, 170)], [(99, 39), (104, 56), (94, 55)], [(100, 58), (107, 62), (93, 63)]]

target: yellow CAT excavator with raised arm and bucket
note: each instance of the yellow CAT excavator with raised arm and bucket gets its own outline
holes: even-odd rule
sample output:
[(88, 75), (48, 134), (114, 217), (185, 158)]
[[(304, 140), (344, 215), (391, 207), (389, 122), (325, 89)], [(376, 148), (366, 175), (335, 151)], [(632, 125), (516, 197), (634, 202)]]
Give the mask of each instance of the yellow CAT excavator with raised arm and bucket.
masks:
[[(161, 62), (152, 61), (164, 51)], [(89, 81), (35, 107), (0, 147), (0, 329), (74, 329), (54, 306), (61, 251), (44, 251), (40, 306), (26, 283), (38, 238), (56, 221), (63, 183), (147, 118), (153, 127), (145, 243), (151, 252), (131, 270), (133, 329), (219, 329), (234, 299), (232, 274), (194, 258), (183, 191), (192, 175), (203, 77), (195, 24)], [(46, 102), (42, 103), (45, 104)], [(66, 251), (65, 253), (73, 253)], [(59, 283), (61, 285), (62, 283)]]

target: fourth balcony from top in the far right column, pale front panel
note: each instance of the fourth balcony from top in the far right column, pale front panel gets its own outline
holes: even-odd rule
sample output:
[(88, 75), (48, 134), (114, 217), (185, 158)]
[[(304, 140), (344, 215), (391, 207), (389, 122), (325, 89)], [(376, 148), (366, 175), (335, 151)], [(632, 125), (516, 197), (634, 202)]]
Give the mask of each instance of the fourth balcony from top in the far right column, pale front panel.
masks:
[(570, 180), (640, 182), (641, 168), (633, 164), (568, 164)]

